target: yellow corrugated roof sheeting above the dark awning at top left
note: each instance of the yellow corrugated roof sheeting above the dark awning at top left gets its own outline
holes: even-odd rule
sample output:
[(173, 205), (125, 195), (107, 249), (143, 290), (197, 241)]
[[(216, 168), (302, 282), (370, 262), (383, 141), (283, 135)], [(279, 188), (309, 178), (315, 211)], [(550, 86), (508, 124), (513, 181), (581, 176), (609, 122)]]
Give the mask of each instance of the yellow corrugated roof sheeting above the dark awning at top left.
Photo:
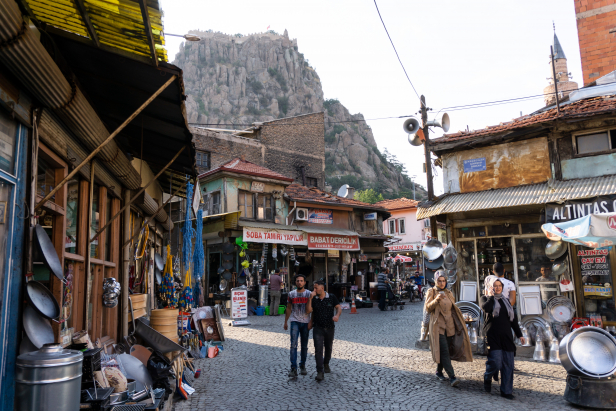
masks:
[[(26, 0), (34, 17), (51, 26), (78, 34), (139, 56), (151, 57), (150, 44), (139, 2), (134, 0), (82, 0), (81, 13), (75, 0)], [(167, 61), (162, 11), (158, 1), (146, 1), (156, 56)], [(87, 19), (87, 21), (84, 19)], [(88, 24), (94, 34), (88, 30)]]

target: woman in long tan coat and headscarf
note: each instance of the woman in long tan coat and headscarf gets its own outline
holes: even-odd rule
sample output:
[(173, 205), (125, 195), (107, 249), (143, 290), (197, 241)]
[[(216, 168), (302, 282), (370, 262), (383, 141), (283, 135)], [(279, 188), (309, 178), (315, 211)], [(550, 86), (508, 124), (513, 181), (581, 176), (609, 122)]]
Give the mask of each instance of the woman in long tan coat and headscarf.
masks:
[(435, 286), (426, 294), (425, 311), (430, 314), (429, 333), (432, 359), (438, 364), (436, 377), (441, 381), (447, 378), (455, 387), (460, 383), (456, 378), (451, 360), (461, 362), (473, 361), (471, 342), (466, 332), (464, 317), (455, 304), (451, 291), (447, 289), (447, 277), (443, 270), (434, 274)]

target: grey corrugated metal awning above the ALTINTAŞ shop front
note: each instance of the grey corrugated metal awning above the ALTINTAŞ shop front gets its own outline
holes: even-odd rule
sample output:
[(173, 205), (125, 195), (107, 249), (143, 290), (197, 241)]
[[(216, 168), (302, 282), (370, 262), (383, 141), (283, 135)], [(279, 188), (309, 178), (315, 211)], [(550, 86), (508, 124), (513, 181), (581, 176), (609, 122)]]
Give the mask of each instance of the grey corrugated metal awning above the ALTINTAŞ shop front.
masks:
[(417, 219), (463, 211), (556, 203), (606, 194), (616, 194), (614, 175), (450, 194), (428, 207), (422, 207), (420, 204)]

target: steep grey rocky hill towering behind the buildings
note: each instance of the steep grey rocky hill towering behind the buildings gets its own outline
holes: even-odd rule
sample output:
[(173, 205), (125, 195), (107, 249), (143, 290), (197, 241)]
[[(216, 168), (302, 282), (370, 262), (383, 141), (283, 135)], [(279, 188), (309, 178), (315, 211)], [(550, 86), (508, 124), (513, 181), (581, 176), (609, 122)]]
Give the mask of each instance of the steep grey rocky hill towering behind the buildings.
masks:
[[(241, 129), (256, 121), (324, 111), (328, 184), (412, 198), (404, 166), (379, 151), (362, 114), (350, 114), (338, 100), (324, 98), (319, 75), (286, 30), (283, 35), (190, 33), (202, 40), (183, 43), (174, 61), (184, 71), (190, 123)], [(423, 187), (416, 189), (417, 199), (426, 197)]]

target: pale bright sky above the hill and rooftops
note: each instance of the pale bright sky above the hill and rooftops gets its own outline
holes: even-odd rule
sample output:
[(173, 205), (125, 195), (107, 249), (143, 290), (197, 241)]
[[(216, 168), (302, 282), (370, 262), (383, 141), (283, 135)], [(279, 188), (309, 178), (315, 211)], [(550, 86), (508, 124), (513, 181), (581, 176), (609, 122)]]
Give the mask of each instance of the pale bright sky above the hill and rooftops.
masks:
[[(285, 29), (317, 70), (325, 98), (362, 113), (381, 151), (394, 153), (425, 186), (423, 147), (411, 146), (404, 119), (419, 95), (445, 109), (449, 132), (510, 121), (544, 106), (543, 98), (467, 110), (447, 107), (536, 96), (548, 85), (552, 23), (573, 81), (583, 83), (573, 0), (377, 0), (387, 30), (417, 92), (406, 78), (373, 0), (160, 0), (166, 33), (199, 29), (229, 34)], [(166, 37), (173, 61), (183, 41)], [(442, 135), (433, 129), (431, 138)], [(436, 168), (434, 189), (443, 192)]]

